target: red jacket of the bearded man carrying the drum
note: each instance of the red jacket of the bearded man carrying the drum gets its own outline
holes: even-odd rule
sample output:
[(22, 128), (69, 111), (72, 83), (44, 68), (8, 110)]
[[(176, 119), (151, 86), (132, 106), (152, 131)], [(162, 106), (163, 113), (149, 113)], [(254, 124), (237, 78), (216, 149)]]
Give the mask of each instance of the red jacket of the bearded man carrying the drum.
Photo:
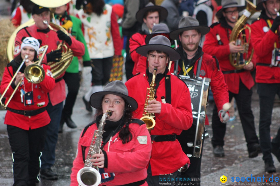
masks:
[[(177, 48), (177, 51), (180, 53), (181, 56), (183, 56), (183, 54), (181, 54), (182, 50), (180, 50), (180, 49), (181, 49), (181, 47)], [(195, 75), (197, 73), (197, 64), (198, 64), (199, 59), (193, 65), (194, 66), (193, 72)], [(182, 64), (182, 59), (179, 60), (179, 66), (182, 66), (180, 64)], [(180, 72), (181, 72), (181, 69), (179, 66), (178, 66), (178, 74), (180, 74)], [(170, 71), (171, 72), (174, 71), (174, 63), (172, 63)], [(223, 109), (223, 105), (225, 103), (229, 102), (228, 88), (227, 88), (227, 84), (225, 83), (225, 79), (223, 77), (222, 72), (220, 70), (218, 70), (216, 60), (211, 55), (206, 54), (206, 53), (204, 53), (202, 55), (200, 77), (211, 79), (210, 86), (211, 86), (211, 90), (213, 92), (215, 104), (216, 104), (216, 106), (218, 108), (218, 112), (219, 112), (219, 110)], [(209, 125), (208, 119), (206, 119), (205, 124)]]

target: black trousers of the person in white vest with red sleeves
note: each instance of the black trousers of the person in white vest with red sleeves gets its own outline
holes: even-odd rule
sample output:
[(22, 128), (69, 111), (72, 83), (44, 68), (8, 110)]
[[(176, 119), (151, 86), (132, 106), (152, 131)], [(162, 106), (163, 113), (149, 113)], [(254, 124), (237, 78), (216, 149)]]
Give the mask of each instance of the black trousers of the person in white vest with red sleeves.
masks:
[(92, 64), (92, 86), (106, 84), (110, 79), (113, 57), (92, 59)]

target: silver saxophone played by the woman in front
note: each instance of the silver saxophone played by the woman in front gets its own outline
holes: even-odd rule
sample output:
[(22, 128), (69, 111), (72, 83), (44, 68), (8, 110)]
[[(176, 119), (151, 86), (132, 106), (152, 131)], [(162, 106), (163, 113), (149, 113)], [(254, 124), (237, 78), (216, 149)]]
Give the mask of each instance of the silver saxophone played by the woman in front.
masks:
[(105, 120), (112, 115), (112, 111), (106, 110), (103, 114), (98, 129), (94, 131), (94, 135), (89, 147), (87, 159), (85, 160), (85, 166), (81, 168), (77, 173), (77, 180), (80, 186), (97, 186), (101, 182), (101, 175), (98, 171), (98, 167), (92, 167), (92, 155), (100, 153), (100, 147), (102, 142), (102, 135), (104, 131), (104, 126), (106, 124)]

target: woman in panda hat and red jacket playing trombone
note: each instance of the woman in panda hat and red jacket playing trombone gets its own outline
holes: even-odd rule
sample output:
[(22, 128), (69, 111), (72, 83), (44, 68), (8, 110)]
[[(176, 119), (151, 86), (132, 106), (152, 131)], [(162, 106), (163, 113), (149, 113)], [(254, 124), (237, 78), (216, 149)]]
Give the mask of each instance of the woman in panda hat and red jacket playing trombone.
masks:
[[(39, 182), (39, 157), (50, 122), (46, 111), (47, 93), (55, 86), (55, 80), (47, 65), (43, 65), (43, 75), (46, 76), (40, 83), (30, 83), (24, 78), (28, 75), (24, 74), (25, 67), (38, 60), (39, 47), (40, 43), (37, 39), (23, 38), (20, 55), (5, 68), (0, 85), (0, 93), (6, 91), (6, 105), (8, 98), (12, 96), (7, 106), (4, 124), (7, 125), (12, 150), (13, 186), (31, 186)], [(17, 84), (20, 85), (12, 95)]]

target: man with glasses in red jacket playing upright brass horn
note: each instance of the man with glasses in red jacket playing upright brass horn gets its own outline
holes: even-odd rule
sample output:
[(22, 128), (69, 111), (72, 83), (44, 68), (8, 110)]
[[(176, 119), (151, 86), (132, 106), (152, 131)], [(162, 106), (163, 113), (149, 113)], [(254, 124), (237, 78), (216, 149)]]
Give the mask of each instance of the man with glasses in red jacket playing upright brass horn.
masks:
[[(243, 46), (238, 45), (235, 41), (229, 40), (230, 35), (236, 34), (232, 29), (237, 22), (239, 11), (244, 9), (244, 6), (237, 4), (236, 0), (222, 0), (222, 8), (217, 12), (219, 18), (218, 23), (211, 25), (210, 32), (206, 34), (205, 42), (202, 47), (203, 52), (215, 55), (220, 64), (225, 82), (228, 86), (229, 102), (234, 97), (238, 107), (238, 112), (247, 142), (249, 158), (258, 156), (260, 153), (260, 144), (256, 135), (254, 116), (251, 109), (251, 97), (253, 94), (252, 87), (254, 80), (250, 73), (254, 68), (254, 62), (250, 61), (243, 69), (236, 69), (230, 64), (229, 55), (231, 53), (244, 51)], [(246, 24), (246, 23), (244, 23)], [(248, 37), (248, 29), (245, 30)], [(248, 40), (248, 38), (246, 38)], [(249, 44), (249, 54), (251, 54), (251, 44)], [(244, 55), (245, 56), (245, 55)], [(244, 57), (245, 59), (245, 57)], [(213, 109), (212, 128), (213, 128), (213, 153), (216, 157), (225, 156), (223, 149), (226, 125), (221, 123), (217, 113), (217, 107)]]

